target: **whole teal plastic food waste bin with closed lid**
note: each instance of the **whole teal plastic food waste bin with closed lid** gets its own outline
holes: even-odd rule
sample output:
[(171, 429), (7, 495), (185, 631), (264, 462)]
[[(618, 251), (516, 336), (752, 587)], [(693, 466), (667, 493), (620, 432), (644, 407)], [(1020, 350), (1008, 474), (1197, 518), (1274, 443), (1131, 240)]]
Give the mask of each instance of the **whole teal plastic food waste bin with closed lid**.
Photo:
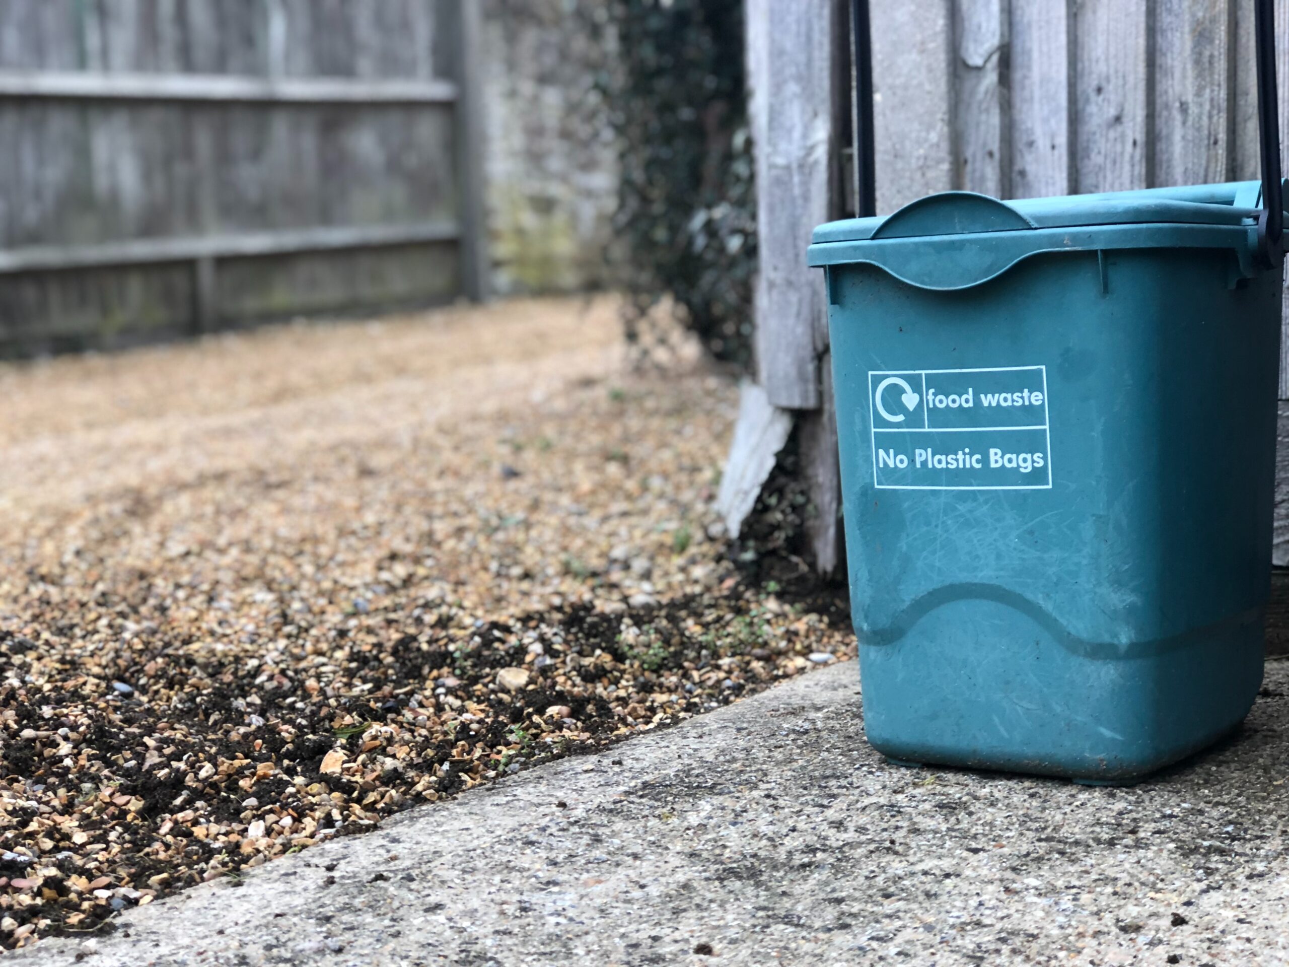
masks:
[(949, 193), (816, 231), (880, 752), (1132, 783), (1239, 726), (1280, 355), (1257, 199)]

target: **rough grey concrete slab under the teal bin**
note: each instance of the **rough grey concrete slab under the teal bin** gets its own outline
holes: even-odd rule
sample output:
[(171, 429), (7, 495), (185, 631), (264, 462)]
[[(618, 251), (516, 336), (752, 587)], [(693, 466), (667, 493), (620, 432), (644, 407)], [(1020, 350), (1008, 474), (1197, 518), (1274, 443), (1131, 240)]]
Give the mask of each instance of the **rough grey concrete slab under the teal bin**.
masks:
[(1286, 780), (1289, 663), (1132, 789), (888, 766), (848, 663), (8, 961), (1286, 964)]

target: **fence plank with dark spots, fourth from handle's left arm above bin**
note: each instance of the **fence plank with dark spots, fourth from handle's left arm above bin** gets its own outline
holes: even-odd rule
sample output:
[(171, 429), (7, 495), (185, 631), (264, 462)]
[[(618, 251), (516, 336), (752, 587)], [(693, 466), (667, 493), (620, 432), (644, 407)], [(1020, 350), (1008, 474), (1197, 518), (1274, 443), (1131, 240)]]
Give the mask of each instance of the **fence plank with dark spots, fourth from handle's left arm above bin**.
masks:
[(1151, 174), (1150, 4), (1079, 0), (1075, 188), (1145, 188)]

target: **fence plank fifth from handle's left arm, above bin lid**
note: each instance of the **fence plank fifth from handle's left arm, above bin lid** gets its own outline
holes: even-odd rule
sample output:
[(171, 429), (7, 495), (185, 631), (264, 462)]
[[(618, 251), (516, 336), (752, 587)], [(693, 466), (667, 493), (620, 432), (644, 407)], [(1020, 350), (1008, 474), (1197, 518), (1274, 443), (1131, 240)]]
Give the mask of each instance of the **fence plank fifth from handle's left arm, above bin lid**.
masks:
[(1231, 178), (1234, 13), (1232, 0), (1155, 0), (1154, 184)]

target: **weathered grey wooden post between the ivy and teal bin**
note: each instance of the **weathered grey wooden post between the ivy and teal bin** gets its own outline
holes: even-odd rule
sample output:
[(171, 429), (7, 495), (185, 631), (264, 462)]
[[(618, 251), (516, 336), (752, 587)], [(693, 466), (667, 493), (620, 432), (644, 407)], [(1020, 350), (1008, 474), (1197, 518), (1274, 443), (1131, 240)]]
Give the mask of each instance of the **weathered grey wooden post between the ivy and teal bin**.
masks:
[[(842, 215), (842, 132), (849, 115), (848, 4), (748, 0), (748, 84), (757, 164), (757, 367), (770, 404), (793, 413), (813, 512), (815, 563), (839, 563), (840, 478), (830, 398), (828, 307), (817, 269), (806, 266), (815, 226)], [(746, 436), (746, 435), (745, 435)], [(772, 435), (758, 437), (779, 446)], [(736, 450), (768, 467), (764, 454)], [(759, 481), (757, 482), (759, 486)], [(731, 518), (735, 527), (737, 514)]]

